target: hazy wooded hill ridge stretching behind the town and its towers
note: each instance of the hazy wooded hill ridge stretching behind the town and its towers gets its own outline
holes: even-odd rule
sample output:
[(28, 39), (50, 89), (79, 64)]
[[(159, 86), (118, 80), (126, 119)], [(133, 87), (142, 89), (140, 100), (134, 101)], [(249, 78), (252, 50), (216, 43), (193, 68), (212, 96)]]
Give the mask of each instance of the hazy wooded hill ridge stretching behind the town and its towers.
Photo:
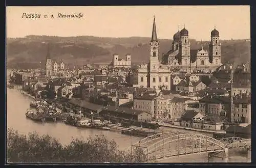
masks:
[[(7, 66), (34, 68), (44, 67), (47, 43), (50, 43), (50, 54), (53, 59), (64, 60), (71, 66), (110, 63), (112, 55), (118, 53), (124, 58), (126, 53), (132, 55), (132, 64), (149, 61), (150, 40), (147, 37), (109, 38), (94, 36), (58, 37), (58, 36), (26, 36), (25, 38), (7, 38)], [(172, 40), (159, 40), (159, 57), (170, 49)], [(208, 41), (190, 39), (191, 49), (208, 50)], [(250, 41), (222, 40), (222, 62), (250, 62)]]

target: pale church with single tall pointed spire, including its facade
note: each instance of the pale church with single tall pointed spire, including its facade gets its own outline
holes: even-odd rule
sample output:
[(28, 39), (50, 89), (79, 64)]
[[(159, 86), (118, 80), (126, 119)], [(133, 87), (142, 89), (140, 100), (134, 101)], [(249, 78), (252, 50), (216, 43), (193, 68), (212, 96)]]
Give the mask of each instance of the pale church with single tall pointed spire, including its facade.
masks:
[(154, 18), (150, 42), (150, 63), (138, 68), (138, 86), (156, 90), (170, 90), (170, 69), (159, 62), (159, 43)]

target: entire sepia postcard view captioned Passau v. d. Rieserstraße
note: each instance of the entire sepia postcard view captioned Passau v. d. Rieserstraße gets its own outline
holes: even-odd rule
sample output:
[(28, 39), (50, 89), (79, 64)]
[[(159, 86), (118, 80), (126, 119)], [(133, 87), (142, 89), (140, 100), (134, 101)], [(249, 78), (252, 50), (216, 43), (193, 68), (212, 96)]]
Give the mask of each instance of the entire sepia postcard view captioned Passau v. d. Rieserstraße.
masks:
[(6, 163), (251, 162), (250, 6), (6, 7)]

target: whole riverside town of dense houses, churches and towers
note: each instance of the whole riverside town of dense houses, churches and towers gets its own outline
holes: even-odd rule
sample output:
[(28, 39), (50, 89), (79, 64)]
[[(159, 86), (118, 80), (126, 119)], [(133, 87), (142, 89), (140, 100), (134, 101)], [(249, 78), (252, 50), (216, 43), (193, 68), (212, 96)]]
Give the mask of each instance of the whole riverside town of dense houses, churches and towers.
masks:
[(111, 64), (70, 68), (65, 60), (51, 58), (49, 44), (45, 69), (13, 69), (7, 87), (22, 86), (23, 93), (35, 98), (31, 106), (37, 111), (45, 110), (38, 107), (43, 100), (57, 106), (68, 115), (54, 121), (70, 125), (92, 127), (81, 122), (84, 117), (104, 123), (92, 128), (115, 128), (134, 136), (154, 135), (164, 126), (208, 132), (217, 139), (250, 138), (250, 63), (221, 62), (216, 28), (209, 34), (209, 51), (202, 46), (191, 58), (185, 25), (160, 61), (155, 18), (152, 29), (147, 64), (133, 66), (133, 55), (115, 53)]

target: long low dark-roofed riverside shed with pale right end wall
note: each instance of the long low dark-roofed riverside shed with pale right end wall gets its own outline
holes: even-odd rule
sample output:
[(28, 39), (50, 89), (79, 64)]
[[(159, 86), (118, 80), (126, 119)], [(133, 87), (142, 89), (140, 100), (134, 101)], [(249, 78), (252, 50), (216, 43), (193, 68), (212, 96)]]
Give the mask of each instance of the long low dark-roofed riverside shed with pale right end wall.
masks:
[(135, 121), (150, 121), (151, 114), (147, 113), (146, 111), (130, 109), (130, 108), (123, 108), (115, 106), (105, 106), (103, 107), (100, 115), (110, 115), (113, 117), (118, 117), (122, 119), (129, 119)]

